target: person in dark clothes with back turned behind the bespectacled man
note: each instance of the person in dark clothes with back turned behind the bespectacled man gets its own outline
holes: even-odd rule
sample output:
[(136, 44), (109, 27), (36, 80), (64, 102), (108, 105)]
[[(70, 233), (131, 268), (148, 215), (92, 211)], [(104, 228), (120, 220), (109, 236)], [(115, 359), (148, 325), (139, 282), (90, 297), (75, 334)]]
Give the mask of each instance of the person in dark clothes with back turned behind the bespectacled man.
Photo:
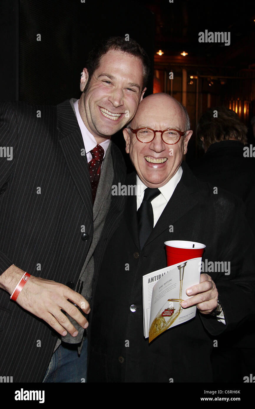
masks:
[[(255, 117), (252, 124), (254, 130)], [(226, 189), (244, 201), (246, 218), (255, 235), (255, 160), (245, 152), (246, 133), (246, 126), (234, 111), (225, 107), (208, 109), (196, 129), (205, 154), (190, 167), (199, 180)], [(243, 326), (238, 333), (228, 337), (223, 335), (218, 348), (214, 348), (215, 382), (238, 382), (241, 372), (254, 371), (253, 324)]]

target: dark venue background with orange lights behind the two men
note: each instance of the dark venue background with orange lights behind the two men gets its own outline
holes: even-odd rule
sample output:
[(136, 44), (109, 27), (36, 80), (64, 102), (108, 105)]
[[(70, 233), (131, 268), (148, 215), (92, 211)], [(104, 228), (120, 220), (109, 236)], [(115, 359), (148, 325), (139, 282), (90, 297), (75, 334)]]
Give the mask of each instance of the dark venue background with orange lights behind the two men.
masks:
[[(248, 142), (253, 143), (254, 1), (4, 0), (1, 11), (1, 101), (55, 105), (79, 98), (80, 74), (95, 42), (129, 34), (154, 65), (145, 96), (153, 92), (153, 84), (154, 92), (171, 94), (187, 107), (193, 130), (208, 107), (224, 105), (248, 126)], [(230, 31), (230, 45), (199, 43), (205, 29)], [(183, 51), (188, 55), (182, 56)], [(191, 80), (191, 75), (197, 78)], [(122, 133), (113, 139), (124, 149)], [(199, 155), (194, 132), (187, 162)]]

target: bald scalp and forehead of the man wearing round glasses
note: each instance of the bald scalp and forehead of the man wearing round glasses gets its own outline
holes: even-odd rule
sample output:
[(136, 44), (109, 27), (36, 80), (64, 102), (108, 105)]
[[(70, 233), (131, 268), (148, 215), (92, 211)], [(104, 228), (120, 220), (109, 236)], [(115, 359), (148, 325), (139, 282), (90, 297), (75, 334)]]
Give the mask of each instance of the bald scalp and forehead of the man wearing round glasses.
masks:
[(135, 123), (140, 123), (144, 112), (149, 112), (151, 117), (157, 117), (158, 115), (162, 117), (163, 115), (166, 120), (169, 118), (169, 114), (171, 112), (171, 114), (176, 115), (176, 117), (178, 117), (182, 123), (184, 122), (184, 128), (180, 130), (185, 131), (190, 129), (190, 118), (186, 108), (168, 94), (161, 92), (158, 94), (151, 94), (144, 98), (140, 102), (135, 117), (129, 123), (128, 128), (136, 128)]

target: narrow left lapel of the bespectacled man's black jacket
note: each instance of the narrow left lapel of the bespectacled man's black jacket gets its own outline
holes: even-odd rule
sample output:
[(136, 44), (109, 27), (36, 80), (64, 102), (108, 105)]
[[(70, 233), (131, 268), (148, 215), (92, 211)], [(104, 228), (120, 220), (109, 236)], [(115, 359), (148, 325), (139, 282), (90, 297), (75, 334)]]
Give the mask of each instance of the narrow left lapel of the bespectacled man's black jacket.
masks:
[[(133, 172), (126, 177), (126, 185), (136, 186), (136, 173)], [(127, 196), (126, 200), (126, 210), (125, 210), (125, 220), (127, 228), (133, 238), (133, 242), (140, 251), (140, 241), (138, 233), (138, 220), (137, 220), (137, 210), (136, 210), (136, 195)]]

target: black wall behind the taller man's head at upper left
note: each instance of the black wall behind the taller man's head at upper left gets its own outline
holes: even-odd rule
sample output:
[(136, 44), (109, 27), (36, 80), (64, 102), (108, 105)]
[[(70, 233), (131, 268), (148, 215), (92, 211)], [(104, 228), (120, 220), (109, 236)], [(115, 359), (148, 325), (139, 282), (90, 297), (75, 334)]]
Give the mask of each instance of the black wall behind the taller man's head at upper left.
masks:
[(120, 2), (106, 4), (102, 0), (5, 0), (0, 18), (4, 57), (1, 100), (55, 105), (79, 98), (86, 56), (102, 37), (129, 34), (153, 63), (154, 16), (135, 2), (122, 2), (120, 7)]

